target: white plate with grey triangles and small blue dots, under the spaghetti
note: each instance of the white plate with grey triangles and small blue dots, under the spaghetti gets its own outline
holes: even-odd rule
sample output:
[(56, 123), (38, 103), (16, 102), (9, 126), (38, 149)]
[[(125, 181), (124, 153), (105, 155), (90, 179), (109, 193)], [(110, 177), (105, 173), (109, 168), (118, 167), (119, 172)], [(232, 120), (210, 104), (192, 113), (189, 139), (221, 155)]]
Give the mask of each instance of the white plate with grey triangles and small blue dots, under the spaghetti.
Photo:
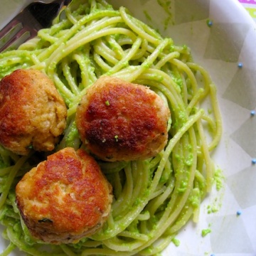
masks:
[[(255, 256), (256, 165), (252, 159), (256, 157), (256, 116), (250, 116), (256, 107), (255, 23), (237, 0), (190, 1), (193, 5), (206, 6), (203, 8), (208, 10), (208, 16), (196, 14), (190, 21), (182, 21), (182, 9), (174, 13), (181, 1), (183, 11), (188, 14), (191, 7), (186, 4), (188, 0), (172, 0), (170, 10), (176, 23), (170, 22), (166, 29), (164, 20), (168, 15), (156, 0), (110, 1), (114, 6), (127, 6), (134, 16), (173, 38), (175, 44), (190, 46), (194, 60), (209, 71), (218, 87), (224, 130), (214, 159), (223, 169), (225, 188), (217, 194), (213, 191), (206, 198), (199, 223), (188, 223), (177, 237), (181, 245), (169, 245), (164, 256)], [(1, 0), (0, 24), (14, 16), (25, 2)], [(146, 20), (144, 11), (152, 21)], [(213, 21), (210, 28), (206, 24), (208, 18)], [(238, 62), (243, 63), (242, 69), (238, 68)], [(217, 213), (208, 214), (209, 204), (221, 208)], [(237, 216), (238, 210), (242, 212), (240, 216)], [(209, 226), (212, 232), (202, 238), (201, 231)], [(0, 252), (5, 246), (6, 242), (0, 240)]]

